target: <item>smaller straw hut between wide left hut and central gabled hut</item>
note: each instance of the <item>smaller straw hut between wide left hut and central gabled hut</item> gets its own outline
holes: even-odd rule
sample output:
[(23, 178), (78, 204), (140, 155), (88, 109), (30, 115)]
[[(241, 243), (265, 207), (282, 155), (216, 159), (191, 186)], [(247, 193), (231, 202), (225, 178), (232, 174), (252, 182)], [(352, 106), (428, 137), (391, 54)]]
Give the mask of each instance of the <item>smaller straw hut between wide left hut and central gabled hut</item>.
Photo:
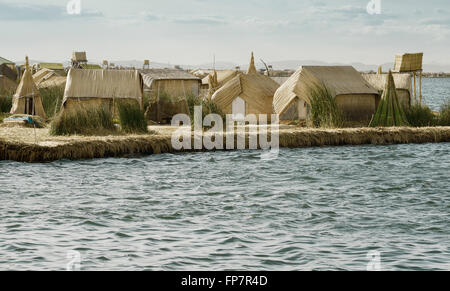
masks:
[(187, 98), (200, 94), (200, 78), (183, 70), (141, 70), (144, 96), (149, 107), (146, 116), (156, 122), (170, 122), (177, 114), (189, 114)]

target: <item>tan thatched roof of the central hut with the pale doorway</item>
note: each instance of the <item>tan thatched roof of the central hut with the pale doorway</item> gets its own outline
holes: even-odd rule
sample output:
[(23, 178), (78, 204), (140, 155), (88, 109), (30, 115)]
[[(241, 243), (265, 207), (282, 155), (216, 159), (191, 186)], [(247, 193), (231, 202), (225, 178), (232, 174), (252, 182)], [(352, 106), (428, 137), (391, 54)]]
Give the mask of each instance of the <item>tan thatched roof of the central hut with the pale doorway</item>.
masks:
[(238, 74), (212, 96), (221, 108), (229, 107), (236, 97), (244, 99), (251, 107), (249, 113), (272, 113), (272, 98), (279, 85), (271, 78), (259, 74)]

